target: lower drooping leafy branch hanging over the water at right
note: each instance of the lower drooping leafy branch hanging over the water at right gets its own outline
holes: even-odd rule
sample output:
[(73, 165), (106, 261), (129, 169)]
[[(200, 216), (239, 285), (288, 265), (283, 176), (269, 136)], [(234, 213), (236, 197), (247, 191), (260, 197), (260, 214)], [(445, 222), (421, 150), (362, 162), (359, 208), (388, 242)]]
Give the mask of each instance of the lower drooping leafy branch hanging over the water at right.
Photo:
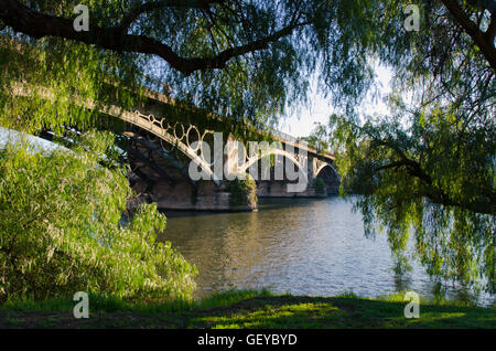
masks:
[(363, 195), (356, 208), (366, 233), (374, 235), (376, 227), (387, 232), (398, 269), (408, 268), (413, 238), (432, 276), (483, 281), (494, 291), (495, 168), (488, 156), (495, 155), (495, 142), (467, 138), (454, 145), (460, 135), (443, 129), (442, 119), (435, 132), (419, 128), (435, 139), (427, 145), (411, 129), (392, 129), (387, 121), (357, 128), (335, 118), (342, 191)]

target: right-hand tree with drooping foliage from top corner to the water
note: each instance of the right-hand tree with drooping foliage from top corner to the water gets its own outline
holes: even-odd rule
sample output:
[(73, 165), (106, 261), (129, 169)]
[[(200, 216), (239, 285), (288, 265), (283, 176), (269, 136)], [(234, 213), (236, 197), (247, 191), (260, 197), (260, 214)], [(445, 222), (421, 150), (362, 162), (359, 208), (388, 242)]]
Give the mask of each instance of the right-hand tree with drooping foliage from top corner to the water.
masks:
[(364, 194), (368, 233), (386, 228), (398, 264), (414, 233), (428, 272), (468, 285), (482, 278), (494, 291), (495, 3), (419, 4), (419, 32), (382, 32), (391, 115), (331, 118), (338, 169), (344, 187)]

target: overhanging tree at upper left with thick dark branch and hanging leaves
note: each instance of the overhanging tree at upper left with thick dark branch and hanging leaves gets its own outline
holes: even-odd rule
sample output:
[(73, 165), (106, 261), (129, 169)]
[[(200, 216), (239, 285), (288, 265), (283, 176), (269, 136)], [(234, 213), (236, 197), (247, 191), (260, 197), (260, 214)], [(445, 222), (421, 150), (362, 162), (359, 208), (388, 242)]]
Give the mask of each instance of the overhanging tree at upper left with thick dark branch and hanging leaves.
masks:
[[(159, 78), (172, 86), (177, 100), (226, 116), (233, 125), (265, 127), (292, 103), (305, 100), (308, 77), (317, 64), (336, 104), (353, 106), (371, 78), (366, 47), (351, 43), (373, 40), (363, 36), (373, 36), (374, 1), (91, 0), (85, 2), (87, 32), (73, 28), (76, 3), (0, 2), (3, 33), (28, 44), (24, 59), (2, 53), (9, 68), (2, 79), (3, 106), (14, 98), (9, 94), (13, 81), (43, 86), (57, 82), (64, 97), (56, 99), (57, 109), (73, 115), (73, 123), (87, 124), (87, 111), (78, 114), (64, 103), (74, 91), (99, 100), (118, 95), (132, 106), (123, 89), (110, 96), (108, 81), (162, 91)], [(29, 67), (33, 62), (36, 70)], [(30, 124), (44, 124), (51, 115), (48, 108), (36, 113), (39, 105), (29, 104)], [(10, 108), (4, 115), (22, 115), (28, 107)], [(12, 124), (10, 117), (2, 123)]]

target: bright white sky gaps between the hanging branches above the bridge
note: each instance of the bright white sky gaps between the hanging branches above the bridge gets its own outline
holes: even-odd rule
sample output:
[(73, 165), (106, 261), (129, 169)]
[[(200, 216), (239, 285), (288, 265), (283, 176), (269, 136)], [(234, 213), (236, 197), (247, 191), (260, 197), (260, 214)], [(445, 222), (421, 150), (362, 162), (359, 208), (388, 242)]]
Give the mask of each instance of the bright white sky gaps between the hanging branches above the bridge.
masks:
[[(382, 67), (376, 67), (377, 82), (379, 83), (379, 95), (381, 98), (373, 99), (371, 94), (368, 94), (367, 98), (362, 106), (362, 111), (367, 115), (374, 113), (387, 114), (387, 105), (382, 102), (382, 98), (390, 93), (391, 71)], [(315, 123), (327, 125), (328, 117), (333, 113), (333, 106), (322, 96), (315, 86), (311, 86), (310, 106), (301, 107), (299, 113), (292, 113), (283, 120), (281, 120), (279, 130), (287, 132), (293, 137), (306, 137), (310, 135), (315, 126)]]

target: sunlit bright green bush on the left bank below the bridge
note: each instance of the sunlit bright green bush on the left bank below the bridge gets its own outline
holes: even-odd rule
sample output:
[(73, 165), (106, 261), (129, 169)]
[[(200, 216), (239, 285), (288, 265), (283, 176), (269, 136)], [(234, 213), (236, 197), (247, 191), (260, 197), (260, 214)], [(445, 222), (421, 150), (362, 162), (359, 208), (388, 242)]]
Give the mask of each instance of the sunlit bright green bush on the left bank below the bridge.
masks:
[(112, 138), (86, 135), (91, 152), (0, 151), (0, 300), (76, 291), (128, 300), (188, 299), (196, 268), (157, 243), (165, 217), (141, 204), (122, 219), (130, 188), (123, 169), (100, 167)]

